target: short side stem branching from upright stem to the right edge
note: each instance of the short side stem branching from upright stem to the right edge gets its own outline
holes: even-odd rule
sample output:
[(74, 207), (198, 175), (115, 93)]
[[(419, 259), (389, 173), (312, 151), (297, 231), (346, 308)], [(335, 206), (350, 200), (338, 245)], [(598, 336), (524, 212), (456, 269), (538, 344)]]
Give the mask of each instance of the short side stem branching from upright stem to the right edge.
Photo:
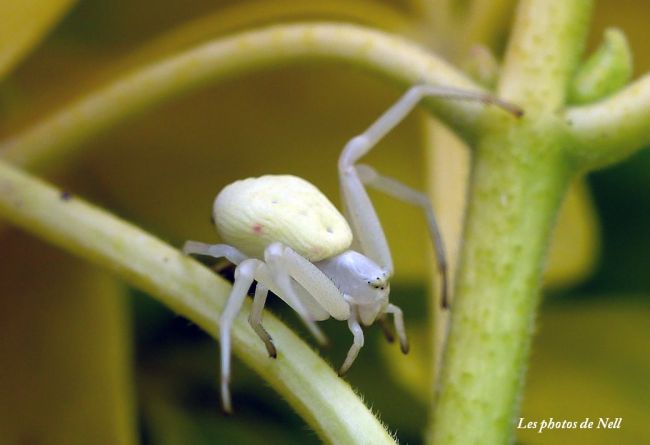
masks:
[(569, 152), (594, 169), (630, 156), (650, 143), (650, 75), (592, 105), (565, 114), (572, 137)]

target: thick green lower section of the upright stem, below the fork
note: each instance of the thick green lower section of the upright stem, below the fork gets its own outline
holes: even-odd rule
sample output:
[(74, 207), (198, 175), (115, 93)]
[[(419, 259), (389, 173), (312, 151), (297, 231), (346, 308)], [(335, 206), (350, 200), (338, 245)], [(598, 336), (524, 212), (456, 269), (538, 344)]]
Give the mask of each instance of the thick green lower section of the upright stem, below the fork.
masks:
[[(519, 141), (517, 153), (507, 149), (512, 142), (496, 135), (475, 154), (436, 444), (503, 444), (512, 436), (542, 262), (570, 178), (557, 140), (540, 132)], [(547, 155), (528, 155), (540, 146)]]

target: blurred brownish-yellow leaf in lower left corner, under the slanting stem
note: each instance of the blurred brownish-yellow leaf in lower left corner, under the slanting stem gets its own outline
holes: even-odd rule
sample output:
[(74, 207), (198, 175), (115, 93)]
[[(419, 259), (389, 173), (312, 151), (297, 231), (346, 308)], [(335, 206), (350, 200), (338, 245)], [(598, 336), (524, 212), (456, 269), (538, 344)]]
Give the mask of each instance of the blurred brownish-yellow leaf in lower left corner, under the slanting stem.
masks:
[(0, 246), (3, 443), (134, 444), (122, 288), (17, 231)]

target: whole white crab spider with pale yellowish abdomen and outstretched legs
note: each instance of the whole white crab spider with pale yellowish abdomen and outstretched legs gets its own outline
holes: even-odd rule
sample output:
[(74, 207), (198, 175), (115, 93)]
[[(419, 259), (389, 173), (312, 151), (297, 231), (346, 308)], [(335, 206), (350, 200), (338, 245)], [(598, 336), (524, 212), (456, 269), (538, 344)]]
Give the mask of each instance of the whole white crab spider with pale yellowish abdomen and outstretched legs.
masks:
[[(366, 185), (423, 209), (438, 258), (446, 307), (446, 262), (428, 198), (367, 165), (357, 165), (427, 96), (495, 104), (521, 115), (518, 108), (484, 93), (428, 85), (412, 87), (363, 134), (351, 139), (341, 153), (338, 170), (347, 220), (307, 181), (288, 175), (262, 176), (234, 182), (216, 197), (213, 220), (227, 244), (185, 243), (186, 254), (226, 258), (237, 266), (220, 319), (221, 398), (226, 412), (232, 409), (228, 386), (230, 329), (253, 281), (257, 285), (248, 320), (273, 358), (277, 355), (275, 345), (262, 326), (262, 309), (269, 290), (299, 314), (321, 343), (325, 338), (316, 321), (330, 316), (347, 320), (354, 341), (339, 374), (350, 368), (363, 346), (361, 325), (383, 321), (387, 314), (394, 317), (402, 352), (408, 352), (402, 311), (388, 301), (393, 261)], [(350, 249), (353, 240), (355, 250)]]

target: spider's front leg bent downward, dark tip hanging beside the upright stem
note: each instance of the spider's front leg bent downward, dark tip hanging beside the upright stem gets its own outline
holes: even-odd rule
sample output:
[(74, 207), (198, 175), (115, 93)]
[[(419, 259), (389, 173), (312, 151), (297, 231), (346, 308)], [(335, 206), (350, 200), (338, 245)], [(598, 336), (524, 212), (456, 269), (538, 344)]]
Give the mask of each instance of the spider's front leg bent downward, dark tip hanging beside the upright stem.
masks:
[(436, 259), (438, 263), (438, 272), (440, 273), (441, 305), (443, 308), (449, 307), (449, 279), (447, 273), (447, 258), (445, 256), (445, 248), (442, 241), (442, 235), (440, 234), (440, 229), (438, 228), (438, 223), (436, 222), (433, 206), (431, 205), (429, 197), (422, 192), (407, 187), (406, 185), (393, 178), (380, 175), (374, 168), (368, 165), (359, 164), (356, 166), (356, 169), (363, 184), (367, 184), (376, 190), (399, 199), (400, 201), (417, 205), (422, 209), (427, 221), (429, 236), (433, 242), (433, 248), (436, 253)]

